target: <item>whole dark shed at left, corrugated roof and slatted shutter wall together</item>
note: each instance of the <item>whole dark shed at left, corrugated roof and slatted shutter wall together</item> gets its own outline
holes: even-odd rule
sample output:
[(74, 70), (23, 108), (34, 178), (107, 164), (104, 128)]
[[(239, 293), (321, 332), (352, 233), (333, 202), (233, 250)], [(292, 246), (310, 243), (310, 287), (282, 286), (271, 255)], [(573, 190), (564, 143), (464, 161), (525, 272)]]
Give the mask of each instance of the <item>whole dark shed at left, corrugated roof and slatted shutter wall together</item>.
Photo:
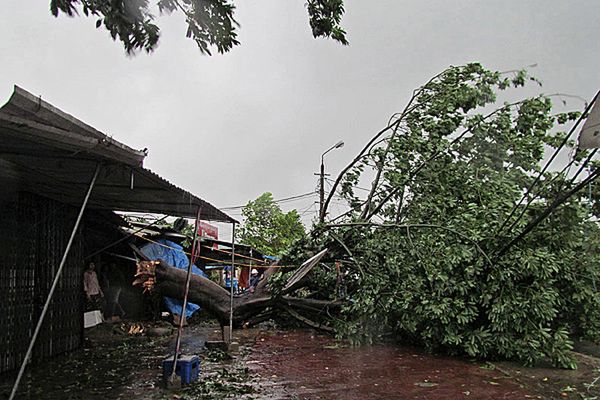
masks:
[(0, 108), (0, 373), (22, 362), (42, 314), (34, 360), (81, 345), (90, 213), (199, 210), (201, 219), (235, 222), (144, 168), (145, 156), (19, 87)]

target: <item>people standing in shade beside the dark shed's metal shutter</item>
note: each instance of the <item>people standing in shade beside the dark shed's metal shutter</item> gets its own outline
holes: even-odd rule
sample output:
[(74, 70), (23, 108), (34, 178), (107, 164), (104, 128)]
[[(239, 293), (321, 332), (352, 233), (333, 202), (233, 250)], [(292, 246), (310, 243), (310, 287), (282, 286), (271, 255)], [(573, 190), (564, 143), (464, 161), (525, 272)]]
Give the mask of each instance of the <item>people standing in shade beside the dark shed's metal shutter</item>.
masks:
[(100, 310), (105, 319), (110, 320), (124, 318), (125, 311), (119, 302), (124, 283), (123, 272), (116, 264), (111, 263), (97, 271), (96, 264), (90, 262), (83, 273), (86, 311)]

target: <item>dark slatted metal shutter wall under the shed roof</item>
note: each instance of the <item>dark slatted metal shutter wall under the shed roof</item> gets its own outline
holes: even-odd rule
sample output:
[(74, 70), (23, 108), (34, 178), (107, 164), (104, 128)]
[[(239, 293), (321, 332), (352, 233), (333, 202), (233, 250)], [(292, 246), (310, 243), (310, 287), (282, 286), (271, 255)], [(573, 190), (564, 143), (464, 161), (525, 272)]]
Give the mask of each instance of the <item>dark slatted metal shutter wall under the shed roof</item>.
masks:
[[(18, 368), (77, 217), (71, 206), (20, 192), (0, 213), (0, 373)], [(83, 333), (83, 240), (76, 235), (33, 360), (79, 347)]]

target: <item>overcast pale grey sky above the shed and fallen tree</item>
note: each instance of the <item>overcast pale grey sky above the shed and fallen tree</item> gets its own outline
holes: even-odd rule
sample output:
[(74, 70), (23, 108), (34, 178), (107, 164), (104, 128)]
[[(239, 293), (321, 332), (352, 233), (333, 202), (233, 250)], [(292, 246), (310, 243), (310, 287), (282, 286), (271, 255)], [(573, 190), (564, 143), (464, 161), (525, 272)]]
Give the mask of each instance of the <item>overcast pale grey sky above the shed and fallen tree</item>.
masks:
[[(202, 56), (174, 14), (158, 21), (157, 50), (131, 57), (93, 18), (54, 18), (48, 0), (4, 0), (0, 100), (13, 84), (41, 95), (147, 147), (147, 167), (227, 207), (314, 190), (324, 150), (346, 142), (326, 158), (336, 175), (448, 65), (537, 64), (545, 93), (591, 99), (600, 88), (598, 0), (346, 0), (346, 47), (312, 38), (303, 0), (236, 4), (242, 44), (229, 54)], [(310, 221), (316, 200), (284, 208)]]

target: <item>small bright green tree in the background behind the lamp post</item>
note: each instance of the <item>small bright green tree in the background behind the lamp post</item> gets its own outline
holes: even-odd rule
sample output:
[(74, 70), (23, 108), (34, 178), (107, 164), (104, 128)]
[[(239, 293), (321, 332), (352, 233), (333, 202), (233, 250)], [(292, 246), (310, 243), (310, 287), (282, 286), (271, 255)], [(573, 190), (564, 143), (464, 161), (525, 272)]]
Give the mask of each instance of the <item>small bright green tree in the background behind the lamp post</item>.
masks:
[(268, 255), (281, 255), (292, 243), (304, 237), (304, 225), (296, 210), (288, 213), (273, 200), (269, 192), (248, 202), (242, 210), (244, 223), (237, 238), (243, 244)]

